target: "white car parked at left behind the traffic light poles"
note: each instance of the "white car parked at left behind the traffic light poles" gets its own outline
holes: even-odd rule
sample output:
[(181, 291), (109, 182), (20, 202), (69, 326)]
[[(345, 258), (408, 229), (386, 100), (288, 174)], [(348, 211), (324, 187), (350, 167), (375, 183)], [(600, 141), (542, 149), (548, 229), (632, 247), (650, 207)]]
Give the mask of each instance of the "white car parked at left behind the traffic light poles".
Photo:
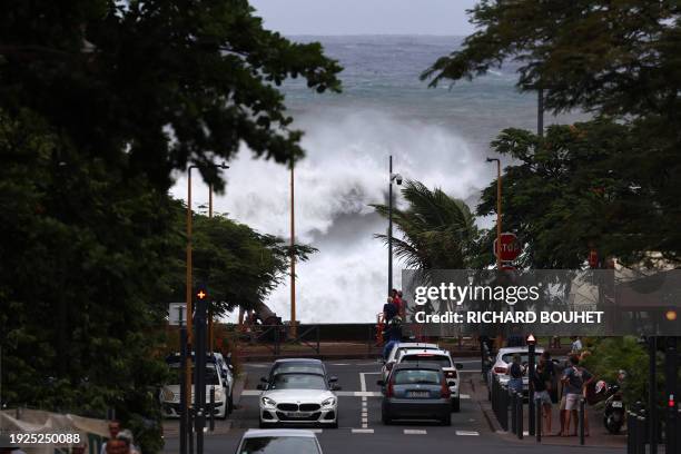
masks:
[[(166, 363), (171, 372), (171, 379), (160, 389), (161, 413), (165, 417), (179, 417), (180, 415), (180, 361), (179, 355), (170, 355), (166, 358)], [(193, 362), (194, 363), (194, 362)], [(215, 417), (224, 420), (231, 411), (231, 386), (225, 379), (225, 375), (218, 365), (215, 356), (206, 358), (206, 404), (210, 403), (210, 389), (215, 392), (215, 402), (213, 412)], [(194, 383), (195, 368), (191, 368), (191, 383)], [(194, 386), (191, 387), (191, 405), (194, 405)]]

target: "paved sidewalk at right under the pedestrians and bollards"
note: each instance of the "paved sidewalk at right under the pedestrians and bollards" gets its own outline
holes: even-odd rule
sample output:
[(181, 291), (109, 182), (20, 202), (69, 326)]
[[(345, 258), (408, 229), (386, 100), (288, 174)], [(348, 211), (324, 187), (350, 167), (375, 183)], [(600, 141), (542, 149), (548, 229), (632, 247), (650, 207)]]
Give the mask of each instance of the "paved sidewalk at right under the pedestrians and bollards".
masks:
[[(471, 387), (473, 392), (471, 393), (471, 398), (476, 401), (485, 416), (485, 420), (490, 424), (490, 428), (492, 432), (495, 432), (501, 437), (509, 441), (509, 443), (519, 443), (519, 444), (540, 444), (536, 442), (535, 436), (530, 436), (527, 434), (527, 403), (524, 405), (524, 421), (523, 421), (523, 440), (519, 440), (515, 434), (512, 432), (505, 432), (501, 428), (499, 422), (496, 421), (496, 416), (492, 411), (492, 403), (487, 399), (487, 387), (485, 383), (482, 381), (480, 375), (476, 375), (471, 379)], [(624, 450), (626, 447), (626, 427), (622, 427), (622, 431), (618, 435), (612, 435), (608, 433), (605, 427), (603, 427), (603, 415), (602, 413), (595, 411), (593, 407), (586, 406), (586, 418), (589, 421), (590, 427), (590, 436), (585, 437), (584, 446), (585, 447), (612, 447)], [(509, 425), (511, 423), (509, 422)], [(572, 426), (572, 424), (571, 424)], [(580, 446), (580, 437), (579, 436), (556, 436), (555, 434), (560, 431), (561, 423), (559, 417), (559, 404), (554, 404), (552, 407), (552, 424), (551, 424), (551, 434), (545, 434), (542, 432), (542, 441), (543, 445), (555, 445), (555, 446)], [(574, 427), (574, 426), (572, 426)], [(544, 427), (542, 427), (544, 428)], [(572, 433), (572, 432), (571, 432)]]

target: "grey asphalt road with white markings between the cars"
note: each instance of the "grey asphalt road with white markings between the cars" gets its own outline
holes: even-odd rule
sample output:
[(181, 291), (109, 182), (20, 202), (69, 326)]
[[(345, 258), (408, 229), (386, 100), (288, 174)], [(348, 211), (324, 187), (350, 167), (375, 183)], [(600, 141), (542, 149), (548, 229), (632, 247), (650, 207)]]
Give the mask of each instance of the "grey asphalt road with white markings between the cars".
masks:
[[(381, 365), (371, 361), (327, 362), (330, 375), (338, 377), (339, 427), (316, 430), (325, 454), (384, 452), (391, 454), (437, 453), (456, 450), (471, 454), (547, 453), (547, 454), (614, 454), (622, 450), (521, 445), (492, 432), (478, 403), (470, 398), (471, 381), (478, 383), (480, 361), (455, 359), (463, 363), (461, 412), (452, 414), (452, 426), (435, 423), (404, 423), (385, 426), (381, 422), (381, 389), (376, 385)], [(239, 408), (231, 415), (231, 428), (205, 437), (205, 454), (227, 454), (236, 451), (241, 434), (258, 426), (258, 395), (255, 389), (269, 364), (246, 364), (246, 389)], [(223, 423), (224, 424), (224, 423)], [(165, 452), (178, 453), (177, 437), (167, 437)]]

